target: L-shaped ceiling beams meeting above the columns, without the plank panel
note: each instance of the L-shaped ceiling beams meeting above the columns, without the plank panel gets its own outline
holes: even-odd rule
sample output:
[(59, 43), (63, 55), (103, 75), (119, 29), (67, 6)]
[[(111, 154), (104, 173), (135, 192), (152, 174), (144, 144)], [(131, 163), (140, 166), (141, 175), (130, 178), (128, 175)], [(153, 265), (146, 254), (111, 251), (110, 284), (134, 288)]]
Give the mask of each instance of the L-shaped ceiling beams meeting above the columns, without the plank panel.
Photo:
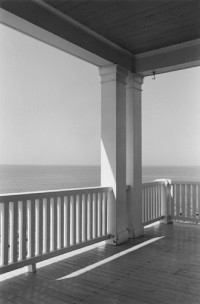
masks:
[(142, 76), (200, 65), (200, 39), (133, 55), (42, 0), (1, 1), (0, 22), (98, 67)]

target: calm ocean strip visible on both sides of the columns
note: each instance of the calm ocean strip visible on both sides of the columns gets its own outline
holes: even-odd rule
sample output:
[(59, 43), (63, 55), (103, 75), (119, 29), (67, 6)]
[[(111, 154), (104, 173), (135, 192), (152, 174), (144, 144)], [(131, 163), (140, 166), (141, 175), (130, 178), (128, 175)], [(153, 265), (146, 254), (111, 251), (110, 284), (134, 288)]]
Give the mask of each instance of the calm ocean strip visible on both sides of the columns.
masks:
[[(200, 181), (200, 167), (143, 167), (143, 182)], [(99, 166), (0, 165), (0, 194), (100, 186)]]

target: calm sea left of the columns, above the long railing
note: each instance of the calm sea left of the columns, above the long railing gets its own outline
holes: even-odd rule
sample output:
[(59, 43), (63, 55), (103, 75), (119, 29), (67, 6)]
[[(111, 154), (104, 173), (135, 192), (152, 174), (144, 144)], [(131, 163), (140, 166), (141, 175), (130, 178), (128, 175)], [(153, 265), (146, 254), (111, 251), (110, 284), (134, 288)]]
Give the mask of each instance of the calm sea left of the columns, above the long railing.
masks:
[(98, 166), (0, 165), (0, 193), (19, 193), (100, 185)]

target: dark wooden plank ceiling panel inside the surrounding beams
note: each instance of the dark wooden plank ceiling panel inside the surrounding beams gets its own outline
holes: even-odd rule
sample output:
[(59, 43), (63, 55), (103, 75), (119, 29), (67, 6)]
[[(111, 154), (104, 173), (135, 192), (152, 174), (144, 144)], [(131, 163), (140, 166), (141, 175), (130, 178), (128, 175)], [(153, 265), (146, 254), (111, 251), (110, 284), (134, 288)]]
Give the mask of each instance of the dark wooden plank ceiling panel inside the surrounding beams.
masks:
[(133, 54), (200, 37), (199, 0), (44, 0)]

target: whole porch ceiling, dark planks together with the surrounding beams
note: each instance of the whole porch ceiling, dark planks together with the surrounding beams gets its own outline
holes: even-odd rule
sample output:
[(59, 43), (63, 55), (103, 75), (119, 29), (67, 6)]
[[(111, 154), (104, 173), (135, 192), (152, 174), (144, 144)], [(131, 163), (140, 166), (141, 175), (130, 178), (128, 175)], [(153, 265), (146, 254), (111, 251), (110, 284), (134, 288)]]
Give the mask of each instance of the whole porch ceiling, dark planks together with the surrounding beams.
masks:
[(5, 25), (97, 66), (146, 76), (200, 65), (200, 0), (0, 0), (0, 7)]

